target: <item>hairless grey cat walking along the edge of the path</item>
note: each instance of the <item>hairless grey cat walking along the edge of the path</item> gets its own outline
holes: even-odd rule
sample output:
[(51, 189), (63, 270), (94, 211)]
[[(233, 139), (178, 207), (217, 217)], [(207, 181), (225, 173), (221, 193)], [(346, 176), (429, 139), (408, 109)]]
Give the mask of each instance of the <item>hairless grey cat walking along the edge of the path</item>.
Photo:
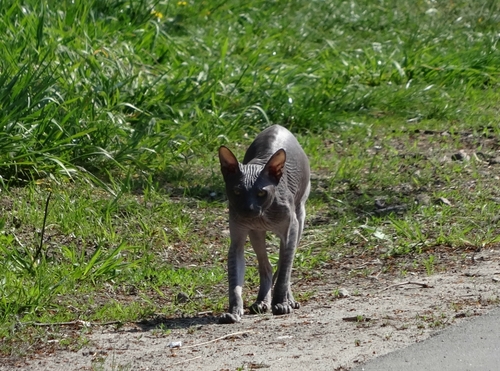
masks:
[[(273, 314), (299, 308), (290, 288), (295, 249), (304, 229), (305, 202), (309, 196), (309, 160), (292, 133), (279, 125), (262, 131), (239, 163), (226, 147), (219, 148), (222, 175), (229, 200), (228, 255), (229, 312), (220, 323), (235, 323), (243, 315), (241, 298), (245, 275), (247, 236), (259, 263), (260, 288), (252, 313), (271, 307)], [(281, 239), (278, 268), (273, 277), (266, 251), (266, 231)], [(271, 288), (274, 278), (274, 293)]]

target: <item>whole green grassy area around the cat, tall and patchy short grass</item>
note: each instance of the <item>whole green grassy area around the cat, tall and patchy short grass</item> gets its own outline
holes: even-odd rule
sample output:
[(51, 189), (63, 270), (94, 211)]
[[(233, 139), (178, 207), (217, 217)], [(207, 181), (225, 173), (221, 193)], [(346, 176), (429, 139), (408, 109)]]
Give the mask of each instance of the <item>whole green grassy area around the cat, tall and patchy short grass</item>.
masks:
[(46, 346), (33, 322), (222, 312), (216, 150), (270, 123), (311, 160), (303, 284), (497, 245), (499, 21), (486, 0), (2, 3), (0, 351)]

